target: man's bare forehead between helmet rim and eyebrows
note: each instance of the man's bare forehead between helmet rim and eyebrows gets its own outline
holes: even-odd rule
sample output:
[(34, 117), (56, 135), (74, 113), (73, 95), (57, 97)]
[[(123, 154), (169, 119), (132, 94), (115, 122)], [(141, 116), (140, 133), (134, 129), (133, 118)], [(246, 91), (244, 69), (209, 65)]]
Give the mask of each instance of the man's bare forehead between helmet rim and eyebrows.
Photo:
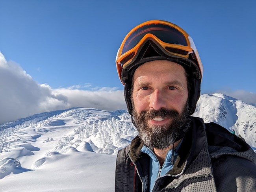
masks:
[(172, 61), (167, 60), (155, 60), (144, 63), (139, 66), (133, 76), (133, 81), (136, 79), (170, 79), (177, 80), (186, 79), (185, 69)]

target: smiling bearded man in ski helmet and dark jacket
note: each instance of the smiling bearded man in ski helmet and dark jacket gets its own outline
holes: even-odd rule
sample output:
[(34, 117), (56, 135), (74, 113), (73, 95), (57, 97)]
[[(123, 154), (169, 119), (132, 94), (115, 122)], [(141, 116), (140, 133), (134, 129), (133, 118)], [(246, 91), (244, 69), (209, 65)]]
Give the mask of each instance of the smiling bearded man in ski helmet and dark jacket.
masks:
[(256, 191), (256, 153), (215, 124), (191, 117), (202, 63), (195, 44), (166, 21), (140, 24), (116, 58), (139, 135), (119, 151), (116, 192)]

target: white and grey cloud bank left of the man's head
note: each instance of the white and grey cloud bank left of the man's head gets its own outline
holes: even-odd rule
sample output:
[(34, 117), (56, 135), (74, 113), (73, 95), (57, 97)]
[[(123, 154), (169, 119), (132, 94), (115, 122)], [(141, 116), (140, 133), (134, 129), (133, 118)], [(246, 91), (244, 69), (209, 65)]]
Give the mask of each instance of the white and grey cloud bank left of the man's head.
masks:
[[(90, 90), (80, 90), (88, 87)], [(126, 109), (122, 90), (92, 88), (90, 84), (52, 89), (34, 81), (17, 63), (7, 62), (0, 52), (0, 123), (70, 107)]]

